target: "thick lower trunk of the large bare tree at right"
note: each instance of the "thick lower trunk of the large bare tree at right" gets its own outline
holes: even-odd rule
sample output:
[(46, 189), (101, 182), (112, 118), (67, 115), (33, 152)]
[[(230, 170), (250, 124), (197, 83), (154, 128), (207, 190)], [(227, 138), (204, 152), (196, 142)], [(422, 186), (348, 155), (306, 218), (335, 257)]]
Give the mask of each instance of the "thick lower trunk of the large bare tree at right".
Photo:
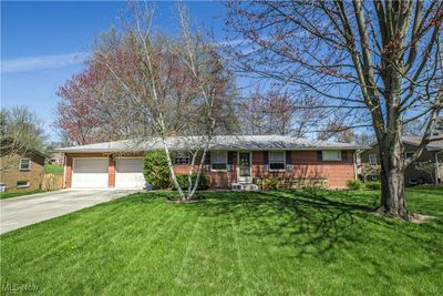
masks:
[(381, 206), (379, 213), (408, 220), (406, 200), (404, 196), (404, 160), (403, 144), (400, 136), (384, 139), (380, 143), (381, 160)]

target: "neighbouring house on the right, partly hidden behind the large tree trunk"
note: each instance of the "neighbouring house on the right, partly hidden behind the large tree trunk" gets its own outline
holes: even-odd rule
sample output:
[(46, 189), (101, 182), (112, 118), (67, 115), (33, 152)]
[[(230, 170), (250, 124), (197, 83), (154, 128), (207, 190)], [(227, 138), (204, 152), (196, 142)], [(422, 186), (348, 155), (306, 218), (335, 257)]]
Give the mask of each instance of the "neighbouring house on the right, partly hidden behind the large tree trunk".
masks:
[[(419, 146), (422, 137), (403, 136), (404, 155), (412, 155)], [(365, 150), (360, 154), (361, 163), (373, 165), (380, 164), (379, 146), (373, 144), (370, 150)], [(410, 185), (423, 183), (441, 183), (443, 178), (443, 140), (430, 142), (419, 160), (406, 167), (404, 173), (405, 182)], [(378, 180), (374, 175), (372, 180)]]

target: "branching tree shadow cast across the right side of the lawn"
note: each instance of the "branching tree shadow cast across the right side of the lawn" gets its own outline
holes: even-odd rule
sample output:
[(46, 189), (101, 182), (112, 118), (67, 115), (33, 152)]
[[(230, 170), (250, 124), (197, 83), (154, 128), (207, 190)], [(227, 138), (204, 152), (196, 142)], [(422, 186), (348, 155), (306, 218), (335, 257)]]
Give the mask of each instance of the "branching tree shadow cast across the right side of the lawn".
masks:
[[(387, 286), (392, 280), (390, 266), (396, 266), (402, 275), (411, 276), (443, 268), (443, 220), (416, 225), (375, 216), (370, 213), (379, 202), (375, 192), (200, 194), (205, 197), (202, 202), (171, 206), (193, 211), (207, 218), (208, 227), (216, 227), (217, 232), (237, 232), (244, 243), (253, 242), (256, 247), (257, 244), (264, 244), (265, 248), (282, 248), (287, 251), (285, 256), (288, 259), (315, 257), (328, 264), (351, 258), (356, 266), (370, 266)], [(145, 203), (166, 196), (171, 196), (171, 193), (134, 196), (126, 202)], [(421, 196), (415, 198), (420, 200)], [(411, 249), (415, 249), (416, 254)], [(419, 254), (420, 261), (415, 258)]]

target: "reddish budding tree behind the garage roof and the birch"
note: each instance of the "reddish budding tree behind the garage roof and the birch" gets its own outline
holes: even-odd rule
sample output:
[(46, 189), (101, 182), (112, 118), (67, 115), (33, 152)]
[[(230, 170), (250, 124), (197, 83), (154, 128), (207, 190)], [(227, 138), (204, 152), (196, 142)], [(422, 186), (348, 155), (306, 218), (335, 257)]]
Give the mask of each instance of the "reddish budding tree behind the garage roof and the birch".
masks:
[[(204, 110), (194, 109), (192, 105), (195, 86), (178, 55), (177, 40), (161, 33), (155, 34), (153, 42), (157, 43), (156, 58), (159, 58), (163, 45), (167, 50), (175, 51), (175, 53), (168, 51), (167, 57), (156, 62), (162, 63), (163, 70), (158, 75), (167, 81), (169, 89), (167, 95), (174, 98), (165, 109), (168, 113), (165, 113), (167, 130), (176, 135), (184, 135), (189, 133), (189, 129), (202, 126), (198, 121), (205, 119), (189, 114)], [(181, 44), (184, 47), (184, 42)], [(96, 51), (90, 57), (85, 69), (68, 80), (56, 92), (61, 101), (53, 125), (61, 135), (75, 144), (83, 145), (132, 139), (141, 134), (156, 134), (151, 116), (127, 91), (130, 89), (142, 91), (140, 84), (146, 80), (146, 65), (142, 60), (141, 50), (134, 28), (132, 31), (121, 33), (111, 29), (99, 37)], [(127, 89), (122, 88), (115, 75), (110, 73), (110, 69), (124, 79)], [(214, 115), (218, 122), (215, 132), (218, 134), (231, 133), (237, 126), (233, 82), (234, 79), (229, 74), (229, 79), (223, 80), (217, 93), (219, 98), (224, 98), (224, 100), (217, 99), (214, 105)]]

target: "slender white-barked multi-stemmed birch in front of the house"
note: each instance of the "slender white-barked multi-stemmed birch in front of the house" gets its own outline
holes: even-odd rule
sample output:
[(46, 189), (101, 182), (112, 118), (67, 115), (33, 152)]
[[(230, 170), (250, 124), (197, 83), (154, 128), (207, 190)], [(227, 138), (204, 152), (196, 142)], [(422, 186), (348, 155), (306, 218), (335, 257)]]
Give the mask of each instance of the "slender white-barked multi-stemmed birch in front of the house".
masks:
[[(216, 47), (193, 33), (185, 8), (178, 7), (181, 35), (153, 29), (154, 9), (132, 3), (132, 18), (121, 35), (107, 35), (97, 44), (93, 62), (104, 67), (131, 99), (131, 109), (143, 112), (145, 124), (159, 139), (179, 200), (195, 195), (217, 120), (225, 100), (231, 98), (229, 72)], [(177, 182), (173, 167), (171, 135), (182, 135), (192, 154), (188, 191)], [(141, 134), (142, 135), (142, 134)], [(192, 175), (197, 177), (193, 184)]]

